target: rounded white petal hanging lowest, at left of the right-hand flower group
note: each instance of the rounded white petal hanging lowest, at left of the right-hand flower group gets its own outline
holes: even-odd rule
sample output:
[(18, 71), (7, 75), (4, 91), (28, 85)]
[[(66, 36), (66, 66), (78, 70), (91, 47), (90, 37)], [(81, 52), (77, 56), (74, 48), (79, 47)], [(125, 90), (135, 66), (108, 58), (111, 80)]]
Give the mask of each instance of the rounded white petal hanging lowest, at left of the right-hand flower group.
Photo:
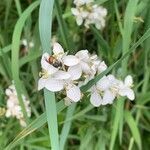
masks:
[(95, 91), (91, 94), (90, 102), (93, 106), (99, 107), (102, 104), (101, 96)]

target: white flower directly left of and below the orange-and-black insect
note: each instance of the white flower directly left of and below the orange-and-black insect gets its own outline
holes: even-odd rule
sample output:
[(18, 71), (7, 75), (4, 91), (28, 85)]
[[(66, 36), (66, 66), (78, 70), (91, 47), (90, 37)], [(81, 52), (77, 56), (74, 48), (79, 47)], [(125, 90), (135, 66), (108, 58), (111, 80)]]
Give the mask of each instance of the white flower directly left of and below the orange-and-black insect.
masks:
[(52, 92), (61, 91), (63, 86), (63, 79), (69, 79), (70, 74), (59, 70), (49, 63), (50, 55), (48, 53), (44, 53), (41, 59), (41, 66), (43, 72), (41, 73), (42, 77), (38, 82), (38, 90), (42, 88), (46, 88)]

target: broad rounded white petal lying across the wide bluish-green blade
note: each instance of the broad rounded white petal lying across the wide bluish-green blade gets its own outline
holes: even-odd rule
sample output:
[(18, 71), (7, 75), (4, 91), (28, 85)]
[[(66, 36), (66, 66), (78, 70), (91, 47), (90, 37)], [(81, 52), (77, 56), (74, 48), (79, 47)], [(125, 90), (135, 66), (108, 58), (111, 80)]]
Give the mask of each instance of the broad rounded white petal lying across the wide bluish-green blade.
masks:
[(64, 82), (62, 80), (49, 78), (46, 80), (45, 88), (52, 92), (61, 91), (64, 88)]

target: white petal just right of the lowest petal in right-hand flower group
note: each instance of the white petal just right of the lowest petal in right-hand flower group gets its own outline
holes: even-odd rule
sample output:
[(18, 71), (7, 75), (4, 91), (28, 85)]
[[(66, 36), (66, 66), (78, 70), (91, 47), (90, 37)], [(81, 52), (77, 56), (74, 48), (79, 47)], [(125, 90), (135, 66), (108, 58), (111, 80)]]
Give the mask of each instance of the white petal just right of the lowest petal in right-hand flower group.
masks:
[(110, 90), (106, 90), (104, 92), (102, 105), (112, 104), (114, 99), (115, 95)]

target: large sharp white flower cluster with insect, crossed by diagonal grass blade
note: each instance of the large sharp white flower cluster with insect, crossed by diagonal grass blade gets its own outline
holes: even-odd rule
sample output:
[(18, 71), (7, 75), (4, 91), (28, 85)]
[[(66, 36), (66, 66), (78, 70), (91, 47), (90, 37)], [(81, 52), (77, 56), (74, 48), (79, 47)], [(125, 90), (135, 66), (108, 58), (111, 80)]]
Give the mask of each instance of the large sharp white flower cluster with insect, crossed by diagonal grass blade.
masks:
[[(88, 50), (68, 55), (59, 43), (54, 44), (52, 55), (43, 54), (41, 66), (38, 89), (45, 87), (52, 92), (63, 91), (67, 104), (80, 101), (83, 95), (80, 87), (107, 69), (105, 62), (97, 55), (89, 54)], [(90, 101), (98, 107), (111, 104), (117, 96), (133, 100), (135, 96), (132, 84), (130, 75), (125, 81), (118, 80), (113, 75), (104, 76), (88, 91), (91, 93)]]

